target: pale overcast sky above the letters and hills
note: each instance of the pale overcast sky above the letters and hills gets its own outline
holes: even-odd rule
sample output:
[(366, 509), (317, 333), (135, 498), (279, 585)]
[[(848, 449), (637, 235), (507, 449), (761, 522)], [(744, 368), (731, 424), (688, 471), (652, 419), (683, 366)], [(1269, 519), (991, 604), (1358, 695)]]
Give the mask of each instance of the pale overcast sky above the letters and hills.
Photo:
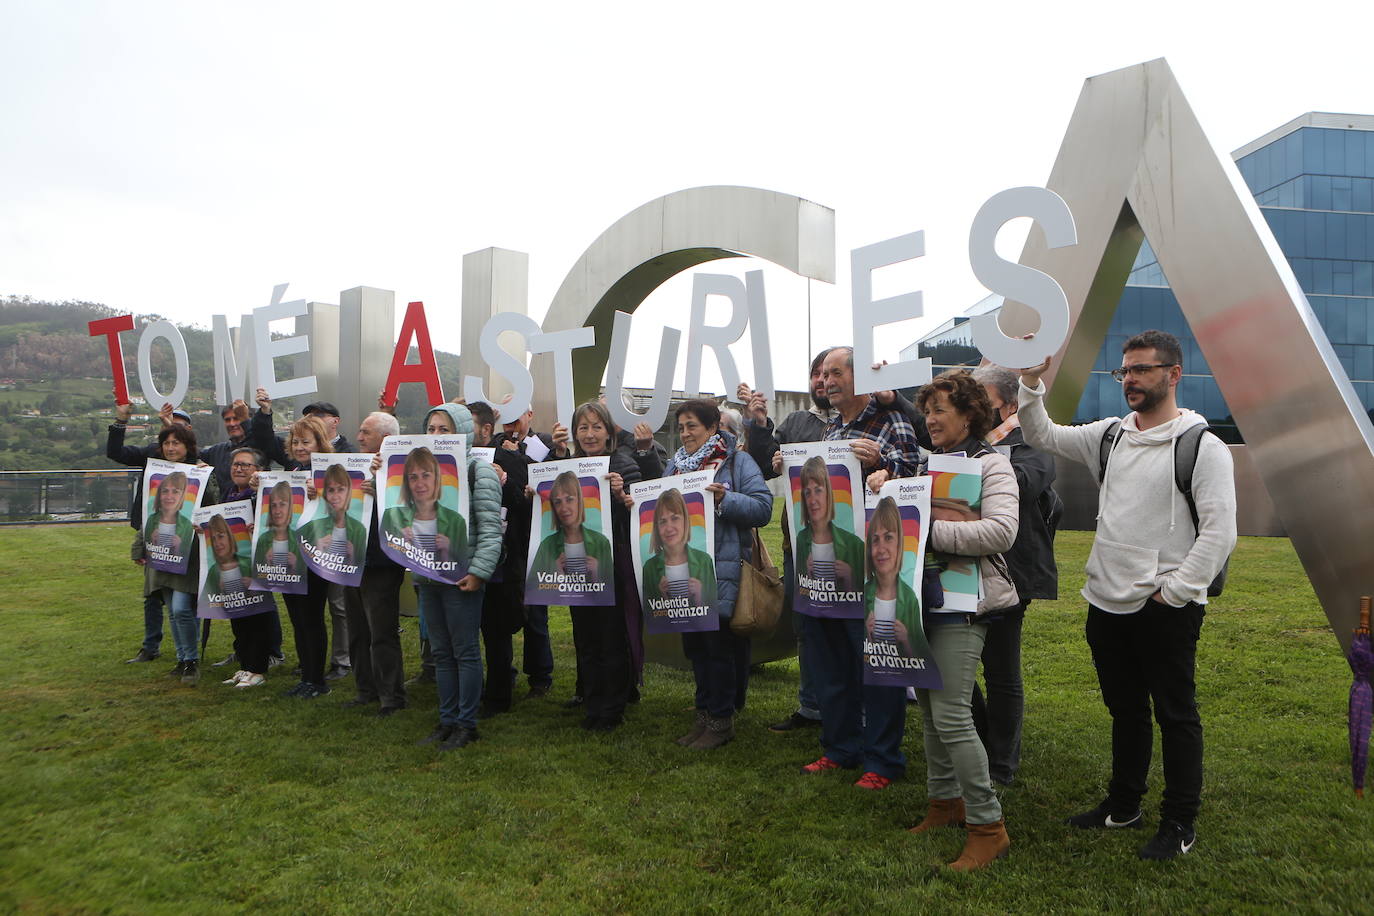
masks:
[[(1309, 110), (1374, 113), (1370, 4), (82, 3), (0, 5), (0, 294), (210, 324), (375, 286), (459, 349), (462, 255), (529, 253), (541, 319), (629, 210), (741, 184), (835, 210), (835, 286), (767, 271), (779, 387), (849, 342), (849, 250), (915, 229), (894, 357), (985, 295), (992, 194), (1043, 185), (1083, 80), (1168, 58), (1221, 151)], [(1024, 228), (1000, 249), (1020, 253)], [(699, 272), (760, 266), (725, 261)], [(636, 314), (651, 382), (690, 272)], [(808, 293), (811, 316), (807, 321)], [(125, 345), (132, 357), (132, 345)], [(736, 360), (750, 372), (747, 338)], [(682, 361), (679, 364), (679, 380)], [(708, 358), (703, 387), (719, 375)]]

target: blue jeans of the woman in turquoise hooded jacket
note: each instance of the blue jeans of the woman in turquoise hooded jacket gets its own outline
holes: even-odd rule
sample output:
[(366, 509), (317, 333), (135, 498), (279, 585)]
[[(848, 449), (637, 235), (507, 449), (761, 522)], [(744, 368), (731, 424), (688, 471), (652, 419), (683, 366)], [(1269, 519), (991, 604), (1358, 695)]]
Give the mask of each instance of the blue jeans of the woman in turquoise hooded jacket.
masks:
[(420, 607), (434, 652), (434, 680), (438, 683), (441, 725), (477, 728), (477, 706), (482, 699), (482, 595), (462, 592), (456, 585), (420, 585)]

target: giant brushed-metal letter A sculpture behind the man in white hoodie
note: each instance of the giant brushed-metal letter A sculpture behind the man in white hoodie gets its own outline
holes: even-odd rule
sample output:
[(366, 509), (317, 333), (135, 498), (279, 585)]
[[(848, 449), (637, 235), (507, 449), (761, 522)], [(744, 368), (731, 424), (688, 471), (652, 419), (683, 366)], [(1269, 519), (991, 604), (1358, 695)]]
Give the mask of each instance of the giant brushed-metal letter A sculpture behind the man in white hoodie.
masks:
[[(1254, 198), (1162, 59), (1087, 80), (1048, 187), (1079, 227), (1074, 247), (1050, 250), (1032, 232), (1021, 254), (1069, 297), (1050, 412), (1073, 416), (1143, 232), (1345, 644), (1374, 589), (1374, 427)], [(1004, 331), (1026, 325), (1004, 309)]]

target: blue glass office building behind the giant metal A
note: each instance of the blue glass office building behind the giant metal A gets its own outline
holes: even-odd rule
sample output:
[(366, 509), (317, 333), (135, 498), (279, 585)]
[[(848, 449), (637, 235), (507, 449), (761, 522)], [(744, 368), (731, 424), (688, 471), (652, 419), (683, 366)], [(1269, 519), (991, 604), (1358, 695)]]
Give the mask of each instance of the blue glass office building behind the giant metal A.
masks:
[[(1374, 115), (1308, 113), (1234, 157), (1355, 393), (1374, 416)], [(1169, 331), (1183, 343), (1179, 404), (1238, 442), (1231, 412), (1149, 240), (1121, 293), (1074, 422), (1121, 413), (1121, 386), (1107, 374), (1121, 364), (1121, 345), (1147, 328)], [(965, 316), (936, 328), (903, 356), (929, 356), (936, 372), (977, 365), (980, 358)]]

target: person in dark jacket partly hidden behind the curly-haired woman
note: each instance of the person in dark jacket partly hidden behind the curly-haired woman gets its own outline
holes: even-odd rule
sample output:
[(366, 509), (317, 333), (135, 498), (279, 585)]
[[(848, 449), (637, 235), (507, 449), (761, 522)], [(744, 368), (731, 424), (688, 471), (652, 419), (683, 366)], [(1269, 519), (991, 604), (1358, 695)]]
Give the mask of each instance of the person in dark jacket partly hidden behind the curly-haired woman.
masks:
[[(1011, 459), (1021, 494), (1021, 526), (1006, 552), (1011, 580), (1021, 603), (985, 618), (988, 639), (982, 644), (982, 680), (987, 689), (973, 685), (973, 721), (988, 751), (988, 772), (1010, 786), (1021, 765), (1021, 721), (1025, 691), (1021, 684), (1021, 623), (1032, 599), (1059, 597), (1059, 571), (1054, 563), (1054, 531), (1063, 503), (1054, 492), (1054, 457), (1039, 452), (1021, 434), (1017, 416), (1017, 389), (1021, 379), (1011, 369), (985, 365), (973, 374), (988, 391), (999, 426), (988, 444)], [(987, 696), (987, 699), (984, 699)]]

